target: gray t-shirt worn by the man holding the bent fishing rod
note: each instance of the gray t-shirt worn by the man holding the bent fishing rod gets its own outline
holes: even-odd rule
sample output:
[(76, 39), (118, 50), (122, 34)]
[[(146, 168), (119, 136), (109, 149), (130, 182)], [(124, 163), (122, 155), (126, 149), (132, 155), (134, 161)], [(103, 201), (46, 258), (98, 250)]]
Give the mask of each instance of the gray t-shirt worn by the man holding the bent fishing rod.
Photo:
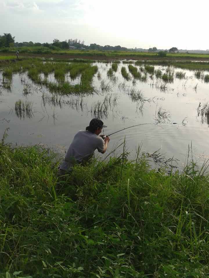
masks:
[(88, 130), (80, 130), (75, 134), (60, 169), (72, 171), (73, 164), (87, 161), (96, 149), (102, 153), (104, 148), (105, 143), (100, 136)]

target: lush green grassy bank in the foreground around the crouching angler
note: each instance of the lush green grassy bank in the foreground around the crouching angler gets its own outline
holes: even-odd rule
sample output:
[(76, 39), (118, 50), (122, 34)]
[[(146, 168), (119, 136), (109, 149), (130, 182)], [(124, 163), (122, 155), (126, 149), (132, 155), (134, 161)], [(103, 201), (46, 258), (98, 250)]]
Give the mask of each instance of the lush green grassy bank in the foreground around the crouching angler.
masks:
[[(122, 147), (122, 146), (121, 146)], [(75, 167), (0, 144), (0, 277), (208, 277), (208, 174), (139, 155)]]

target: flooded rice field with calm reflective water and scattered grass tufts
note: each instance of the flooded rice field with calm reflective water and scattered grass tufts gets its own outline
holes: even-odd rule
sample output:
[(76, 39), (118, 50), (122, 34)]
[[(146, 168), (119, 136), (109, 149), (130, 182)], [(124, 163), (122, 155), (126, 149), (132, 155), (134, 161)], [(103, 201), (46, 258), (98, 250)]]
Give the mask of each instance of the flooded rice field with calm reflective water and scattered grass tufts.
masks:
[[(98, 62), (91, 66), (96, 66), (90, 82), (93, 89), (69, 95), (52, 91), (49, 84), (76, 86), (82, 83), (80, 72), (74, 76), (66, 72), (60, 78), (56, 69), (40, 73), (38, 78), (45, 80), (41, 83), (32, 81), (30, 69), (12, 72), (10, 77), (2, 70), (0, 139), (9, 128), (6, 142), (13, 146), (41, 144), (64, 155), (75, 133), (98, 117), (108, 126), (105, 134), (147, 124), (112, 135), (109, 151), (125, 137), (130, 158), (142, 144), (141, 152), (151, 160), (168, 160), (167, 165), (180, 168), (191, 145), (197, 163), (208, 159), (208, 72), (134, 62)], [(122, 147), (116, 152), (122, 152)]]

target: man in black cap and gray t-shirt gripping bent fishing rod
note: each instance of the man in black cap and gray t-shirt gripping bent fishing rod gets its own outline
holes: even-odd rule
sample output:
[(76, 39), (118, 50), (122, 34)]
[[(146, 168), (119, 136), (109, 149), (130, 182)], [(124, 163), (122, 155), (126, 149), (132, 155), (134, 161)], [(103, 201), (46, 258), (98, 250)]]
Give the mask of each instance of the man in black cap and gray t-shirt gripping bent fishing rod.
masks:
[(57, 174), (58, 176), (71, 172), (73, 170), (73, 165), (76, 163), (83, 164), (86, 162), (96, 149), (98, 149), (100, 153), (105, 153), (110, 138), (107, 136), (105, 140), (103, 140), (102, 137), (104, 135), (99, 136), (103, 127), (107, 126), (104, 125), (102, 120), (94, 118), (90, 121), (86, 130), (80, 130), (75, 134), (73, 142), (60, 166), (60, 170)]

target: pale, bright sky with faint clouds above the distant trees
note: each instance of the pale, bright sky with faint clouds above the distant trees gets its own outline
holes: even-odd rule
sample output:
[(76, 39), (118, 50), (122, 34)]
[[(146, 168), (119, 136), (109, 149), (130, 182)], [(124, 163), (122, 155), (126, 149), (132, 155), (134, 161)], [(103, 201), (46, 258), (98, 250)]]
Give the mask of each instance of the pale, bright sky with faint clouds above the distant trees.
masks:
[(0, 35), (15, 42), (206, 50), (209, 1), (0, 0)]

